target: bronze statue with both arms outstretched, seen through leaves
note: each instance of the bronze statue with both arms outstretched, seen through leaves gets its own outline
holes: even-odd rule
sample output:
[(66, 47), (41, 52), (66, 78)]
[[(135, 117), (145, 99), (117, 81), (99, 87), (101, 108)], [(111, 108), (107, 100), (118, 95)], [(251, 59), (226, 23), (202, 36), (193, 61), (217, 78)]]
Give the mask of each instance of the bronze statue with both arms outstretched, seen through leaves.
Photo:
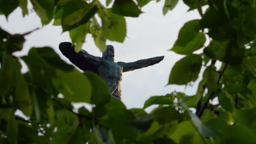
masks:
[(102, 58), (90, 55), (85, 50), (76, 53), (72, 43), (59, 44), (61, 53), (83, 71), (93, 71), (99, 74), (108, 83), (111, 97), (121, 100), (122, 73), (154, 65), (163, 60), (164, 56), (141, 59), (135, 62), (114, 62), (115, 50), (111, 45), (106, 46)]

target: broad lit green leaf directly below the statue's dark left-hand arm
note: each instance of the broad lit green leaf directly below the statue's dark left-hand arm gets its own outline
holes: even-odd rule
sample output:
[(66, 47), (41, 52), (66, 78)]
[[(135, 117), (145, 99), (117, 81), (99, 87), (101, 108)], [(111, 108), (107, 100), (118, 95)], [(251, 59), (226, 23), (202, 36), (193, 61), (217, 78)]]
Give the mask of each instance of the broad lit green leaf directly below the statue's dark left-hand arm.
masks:
[(53, 79), (53, 85), (71, 102), (91, 103), (91, 83), (78, 70), (56, 70), (56, 78)]

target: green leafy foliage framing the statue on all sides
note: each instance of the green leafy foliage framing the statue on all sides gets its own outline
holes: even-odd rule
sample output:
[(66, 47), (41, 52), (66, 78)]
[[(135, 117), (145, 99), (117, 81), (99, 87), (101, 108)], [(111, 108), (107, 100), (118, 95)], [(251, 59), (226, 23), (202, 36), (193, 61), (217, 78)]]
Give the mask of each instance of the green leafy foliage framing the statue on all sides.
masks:
[[(124, 17), (138, 17), (150, 0), (106, 0), (111, 8), (99, 0), (30, 2), (42, 25), (54, 21), (61, 26), (79, 52), (87, 34), (102, 51), (106, 40), (123, 42)], [(163, 14), (177, 2), (165, 0)], [(198, 91), (153, 96), (142, 109), (129, 110), (111, 100), (101, 77), (80, 73), (50, 47), (14, 56), (30, 32), (10, 34), (0, 28), (0, 143), (103, 143), (100, 127), (109, 143), (255, 143), (256, 1), (183, 2), (201, 18), (180, 29), (171, 50), (184, 58), (172, 68), (168, 84), (200, 80)], [(27, 0), (2, 0), (0, 14), (8, 18), (19, 7), (26, 16), (27, 5)], [(28, 72), (21, 73), (21, 62)], [(72, 103), (92, 109), (75, 110)], [(153, 105), (152, 112), (145, 112)]]

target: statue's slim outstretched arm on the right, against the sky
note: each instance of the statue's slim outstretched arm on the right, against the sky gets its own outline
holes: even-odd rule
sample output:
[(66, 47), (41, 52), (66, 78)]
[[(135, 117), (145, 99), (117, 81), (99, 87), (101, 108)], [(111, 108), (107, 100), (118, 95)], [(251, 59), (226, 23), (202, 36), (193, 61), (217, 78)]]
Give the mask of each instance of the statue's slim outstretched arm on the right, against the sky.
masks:
[(165, 56), (157, 56), (154, 58), (141, 59), (135, 62), (118, 62), (118, 64), (121, 65), (121, 67), (123, 67), (123, 72), (126, 72), (157, 64), (160, 61), (162, 61), (164, 57)]

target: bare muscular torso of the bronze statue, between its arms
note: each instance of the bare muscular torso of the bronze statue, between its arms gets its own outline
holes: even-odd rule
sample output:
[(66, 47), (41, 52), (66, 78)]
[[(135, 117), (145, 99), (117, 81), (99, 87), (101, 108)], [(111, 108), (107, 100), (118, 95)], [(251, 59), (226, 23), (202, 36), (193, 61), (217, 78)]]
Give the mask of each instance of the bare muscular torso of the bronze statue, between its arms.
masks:
[(116, 62), (105, 59), (99, 67), (100, 76), (108, 83), (112, 98), (121, 99), (121, 86), (123, 67)]

